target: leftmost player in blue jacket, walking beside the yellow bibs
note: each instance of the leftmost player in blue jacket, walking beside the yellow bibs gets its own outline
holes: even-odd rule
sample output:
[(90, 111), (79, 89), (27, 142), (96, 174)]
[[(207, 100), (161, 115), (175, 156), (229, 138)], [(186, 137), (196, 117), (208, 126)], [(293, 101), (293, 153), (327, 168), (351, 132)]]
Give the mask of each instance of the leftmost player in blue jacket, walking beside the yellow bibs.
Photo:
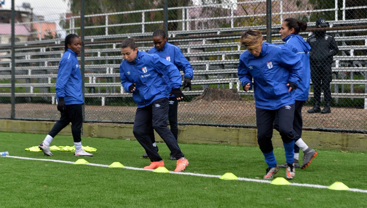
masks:
[(81, 105), (84, 104), (82, 77), (77, 59), (81, 50), (81, 39), (76, 34), (65, 37), (65, 52), (59, 63), (56, 80), (57, 110), (61, 112), (60, 119), (52, 127), (43, 142), (38, 147), (47, 156), (52, 156), (50, 143), (52, 139), (71, 122), (71, 132), (75, 145), (75, 156), (93, 156), (81, 147), (81, 127), (83, 114)]

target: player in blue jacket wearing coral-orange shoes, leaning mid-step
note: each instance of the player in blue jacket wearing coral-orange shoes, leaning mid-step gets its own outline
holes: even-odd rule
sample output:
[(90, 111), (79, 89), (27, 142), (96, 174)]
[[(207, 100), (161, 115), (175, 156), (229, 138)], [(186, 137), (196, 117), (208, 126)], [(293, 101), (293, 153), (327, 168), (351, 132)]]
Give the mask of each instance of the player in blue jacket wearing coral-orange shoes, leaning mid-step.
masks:
[[(157, 54), (139, 51), (131, 38), (121, 43), (124, 60), (120, 65), (120, 79), (123, 88), (132, 93), (138, 104), (135, 113), (133, 133), (150, 158), (150, 165), (144, 169), (164, 167), (164, 162), (149, 138), (150, 126), (164, 140), (172, 155), (177, 158), (175, 171), (182, 171), (189, 164), (183, 157), (172, 132), (167, 127), (168, 96), (174, 94), (177, 100), (183, 98), (181, 73), (177, 67)], [(166, 80), (164, 77), (168, 77)]]

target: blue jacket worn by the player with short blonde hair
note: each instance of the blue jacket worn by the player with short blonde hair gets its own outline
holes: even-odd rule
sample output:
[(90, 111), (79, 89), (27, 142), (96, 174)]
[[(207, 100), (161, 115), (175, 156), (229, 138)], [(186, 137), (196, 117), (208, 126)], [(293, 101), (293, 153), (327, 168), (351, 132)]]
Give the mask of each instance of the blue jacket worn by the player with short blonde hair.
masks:
[(299, 84), (303, 68), (301, 59), (284, 45), (263, 43), (259, 56), (248, 50), (240, 55), (238, 76), (242, 85), (251, 84), (250, 90), (253, 85), (256, 107), (276, 110), (294, 104), (294, 90), (288, 92), (287, 84)]

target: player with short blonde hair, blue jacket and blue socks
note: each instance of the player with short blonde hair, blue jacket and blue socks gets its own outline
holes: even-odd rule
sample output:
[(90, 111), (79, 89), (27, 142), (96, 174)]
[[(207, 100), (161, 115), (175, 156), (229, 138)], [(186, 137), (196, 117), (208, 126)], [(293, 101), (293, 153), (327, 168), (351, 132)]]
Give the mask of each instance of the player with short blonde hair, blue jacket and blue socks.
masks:
[[(247, 50), (240, 55), (238, 76), (245, 91), (254, 87), (258, 144), (268, 164), (264, 179), (279, 171), (273, 154), (272, 135), (275, 119), (286, 153), (286, 178), (292, 179), (294, 169), (294, 90), (301, 81), (303, 64), (299, 57), (283, 45), (263, 42), (260, 30), (246, 30), (240, 45)], [(252, 78), (254, 83), (252, 84)]]

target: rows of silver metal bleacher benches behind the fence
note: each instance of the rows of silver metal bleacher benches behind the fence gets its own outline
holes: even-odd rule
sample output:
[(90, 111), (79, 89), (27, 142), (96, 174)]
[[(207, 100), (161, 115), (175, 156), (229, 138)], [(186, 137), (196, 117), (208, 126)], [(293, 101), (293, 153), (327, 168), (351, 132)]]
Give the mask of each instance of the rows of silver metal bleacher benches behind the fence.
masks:
[[(331, 22), (333, 26), (341, 24)], [(348, 23), (348, 22), (344, 22)], [(362, 20), (361, 24), (367, 23)], [(273, 26), (277, 28), (279, 25)], [(264, 25), (257, 26), (265, 29)], [(200, 90), (184, 91), (186, 95), (200, 95), (208, 86), (237, 88), (239, 94), (252, 94), (241, 90), (241, 83), (237, 76), (239, 55), (244, 51), (238, 45), (239, 32), (246, 28), (214, 28), (207, 30), (170, 31), (169, 42), (178, 45), (183, 55), (194, 68), (195, 79), (192, 85)], [(339, 54), (334, 56), (332, 85), (351, 85), (350, 92), (334, 90), (335, 98), (365, 98), (367, 96), (367, 29), (338, 29), (330, 30), (339, 45)], [(306, 39), (310, 32), (301, 33)], [(86, 36), (85, 40), (85, 78), (86, 97), (101, 98), (104, 105), (105, 98), (131, 96), (123, 90), (120, 84), (119, 66), (121, 62), (119, 44), (126, 37), (134, 37), (139, 50), (148, 51), (152, 47), (152, 33), (110, 34), (103, 39), (111, 39), (108, 43), (98, 41), (100, 36)], [(274, 34), (279, 37), (279, 34)], [(55, 103), (55, 81), (57, 78), (58, 62), (63, 54), (63, 40), (30, 41), (26, 45), (17, 43), (15, 49), (15, 87), (26, 88), (26, 92), (16, 92), (22, 97), (49, 97)], [(358, 44), (348, 44), (354, 41)], [(272, 43), (283, 44), (280, 39)], [(8, 45), (0, 45), (4, 48)], [(0, 80), (11, 79), (11, 51), (0, 50)], [(364, 79), (348, 78), (344, 75), (355, 73), (364, 76)], [(353, 85), (364, 85), (364, 93), (354, 93)], [(10, 97), (11, 84), (1, 83), (0, 89), (5, 89), (0, 96)], [(37, 90), (43, 89), (43, 90)], [(309, 96), (312, 96), (310, 93)]]

